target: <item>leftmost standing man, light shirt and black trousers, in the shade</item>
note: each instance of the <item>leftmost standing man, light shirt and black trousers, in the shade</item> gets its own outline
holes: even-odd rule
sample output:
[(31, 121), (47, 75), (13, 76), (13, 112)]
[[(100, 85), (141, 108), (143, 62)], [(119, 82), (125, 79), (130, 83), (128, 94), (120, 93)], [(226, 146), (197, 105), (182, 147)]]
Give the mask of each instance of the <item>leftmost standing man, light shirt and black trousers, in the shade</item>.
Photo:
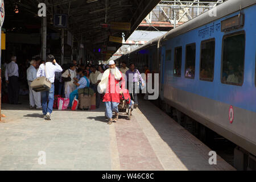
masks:
[(6, 65), (5, 80), (8, 84), (8, 97), (10, 104), (19, 103), (19, 68), (16, 56), (11, 56), (11, 63)]

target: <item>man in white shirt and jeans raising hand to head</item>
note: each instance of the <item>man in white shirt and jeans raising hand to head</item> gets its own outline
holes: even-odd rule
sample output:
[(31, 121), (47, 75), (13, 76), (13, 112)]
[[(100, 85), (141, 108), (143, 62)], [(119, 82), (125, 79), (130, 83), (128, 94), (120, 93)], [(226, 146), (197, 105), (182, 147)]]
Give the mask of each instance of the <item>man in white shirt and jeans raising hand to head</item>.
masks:
[[(51, 120), (52, 106), (54, 102), (54, 80), (55, 72), (62, 72), (62, 68), (56, 63), (55, 57), (53, 55), (48, 55), (46, 58), (46, 72), (44, 70), (44, 64), (41, 64), (36, 77), (46, 76), (46, 78), (51, 81), (52, 86), (49, 91), (44, 91), (42, 95), (42, 108), (44, 119)], [(47, 105), (47, 98), (49, 103)]]

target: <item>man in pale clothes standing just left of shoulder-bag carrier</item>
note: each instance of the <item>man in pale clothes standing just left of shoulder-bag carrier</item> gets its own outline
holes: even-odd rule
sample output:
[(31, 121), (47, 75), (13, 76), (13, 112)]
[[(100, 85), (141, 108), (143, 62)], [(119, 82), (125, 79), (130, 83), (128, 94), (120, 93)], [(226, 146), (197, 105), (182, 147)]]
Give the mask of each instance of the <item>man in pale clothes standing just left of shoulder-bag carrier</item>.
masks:
[(41, 93), (32, 90), (30, 84), (36, 78), (36, 61), (30, 61), (30, 67), (27, 68), (27, 83), (30, 90), (30, 109), (36, 107), (36, 109), (42, 108), (41, 105)]

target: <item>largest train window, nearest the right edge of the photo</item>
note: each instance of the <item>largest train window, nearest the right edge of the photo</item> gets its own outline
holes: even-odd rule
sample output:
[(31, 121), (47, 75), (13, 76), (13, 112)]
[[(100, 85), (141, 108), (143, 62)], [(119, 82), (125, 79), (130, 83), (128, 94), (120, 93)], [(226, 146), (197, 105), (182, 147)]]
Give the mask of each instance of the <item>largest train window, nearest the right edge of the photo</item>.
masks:
[(221, 82), (242, 85), (245, 59), (245, 33), (226, 35), (222, 41)]

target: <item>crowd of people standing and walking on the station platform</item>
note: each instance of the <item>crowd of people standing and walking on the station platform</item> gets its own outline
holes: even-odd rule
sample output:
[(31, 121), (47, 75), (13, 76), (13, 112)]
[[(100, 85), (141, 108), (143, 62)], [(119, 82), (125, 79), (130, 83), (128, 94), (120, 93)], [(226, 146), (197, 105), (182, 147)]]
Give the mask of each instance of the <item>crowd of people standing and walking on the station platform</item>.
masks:
[[(18, 66), (16, 61), (16, 56), (12, 56), (9, 64), (1, 65), (4, 72), (2, 89), (7, 86), (9, 104), (20, 104), (19, 85), (26, 82), (30, 98), (30, 109), (42, 109), (43, 117), (48, 120), (51, 120), (55, 94), (69, 98), (69, 107), (71, 107), (73, 98), (75, 96), (78, 97), (78, 90), (90, 87), (96, 93), (96, 108), (100, 107), (101, 98), (105, 102), (105, 115), (109, 119), (109, 124), (111, 124), (113, 121), (112, 111), (115, 112), (115, 116), (118, 115), (117, 106), (120, 92), (120, 90), (115, 90), (114, 93), (108, 93), (110, 87), (113, 86), (111, 84), (117, 85), (120, 82), (120, 89), (125, 88), (127, 84), (130, 97), (134, 101), (134, 107), (138, 106), (139, 82), (142, 82), (142, 86), (144, 86), (141, 73), (139, 73), (138, 69), (135, 69), (135, 64), (133, 63), (127, 68), (126, 63), (122, 62), (121, 67), (117, 68), (113, 60), (109, 61), (108, 64), (102, 65), (77, 64), (77, 61), (73, 60), (71, 64), (60, 66), (53, 55), (48, 55), (46, 62), (42, 61), (40, 57), (36, 57), (31, 61), (26, 60), (25, 65), (21, 67)], [(149, 70), (146, 66), (144, 68), (147, 75)], [(124, 81), (124, 75), (126, 75), (127, 82)], [(31, 82), (42, 76), (46, 76), (51, 81), (51, 89), (48, 92), (35, 92), (31, 88)], [(98, 86), (101, 89), (101, 93), (98, 92)], [(145, 94), (144, 99), (147, 99), (147, 94)], [(115, 119), (117, 118), (115, 117)]]

